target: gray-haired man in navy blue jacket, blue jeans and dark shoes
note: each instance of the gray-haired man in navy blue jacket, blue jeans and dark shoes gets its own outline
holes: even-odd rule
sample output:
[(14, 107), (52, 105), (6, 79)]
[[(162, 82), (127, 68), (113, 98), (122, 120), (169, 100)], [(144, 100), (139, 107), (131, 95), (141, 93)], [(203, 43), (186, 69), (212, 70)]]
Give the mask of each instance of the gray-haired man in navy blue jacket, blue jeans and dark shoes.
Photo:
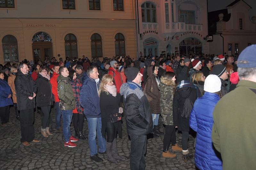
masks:
[(84, 80), (80, 90), (80, 103), (84, 108), (84, 115), (88, 122), (88, 141), (90, 148), (90, 158), (96, 162), (102, 162), (98, 155), (96, 145), (96, 131), (99, 145), (99, 153), (106, 152), (106, 141), (101, 135), (101, 114), (100, 114), (100, 97), (98, 89), (100, 87), (100, 79), (98, 69), (95, 66), (88, 67), (87, 78)]

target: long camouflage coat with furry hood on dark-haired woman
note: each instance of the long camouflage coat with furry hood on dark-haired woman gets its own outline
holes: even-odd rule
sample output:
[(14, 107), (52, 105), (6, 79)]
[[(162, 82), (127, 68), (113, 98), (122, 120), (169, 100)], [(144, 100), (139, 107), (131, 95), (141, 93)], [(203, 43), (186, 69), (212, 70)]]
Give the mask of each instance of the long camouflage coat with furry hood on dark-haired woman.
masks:
[(173, 125), (172, 100), (175, 82), (165, 77), (161, 77), (160, 90), (160, 108), (164, 125)]

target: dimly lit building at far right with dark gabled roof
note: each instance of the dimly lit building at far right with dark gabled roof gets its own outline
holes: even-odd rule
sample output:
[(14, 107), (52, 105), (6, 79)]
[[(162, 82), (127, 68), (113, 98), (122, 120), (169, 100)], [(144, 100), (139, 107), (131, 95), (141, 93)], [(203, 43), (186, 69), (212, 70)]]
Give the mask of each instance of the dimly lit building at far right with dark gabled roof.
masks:
[(247, 46), (256, 44), (256, 17), (249, 17), (250, 9), (243, 0), (236, 0), (226, 9), (209, 12), (211, 54), (238, 55)]

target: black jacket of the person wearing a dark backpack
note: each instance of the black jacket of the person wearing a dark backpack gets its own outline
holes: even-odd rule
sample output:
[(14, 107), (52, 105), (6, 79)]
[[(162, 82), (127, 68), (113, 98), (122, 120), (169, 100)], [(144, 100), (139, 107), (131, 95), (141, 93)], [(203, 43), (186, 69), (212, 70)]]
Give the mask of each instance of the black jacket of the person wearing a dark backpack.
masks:
[(174, 126), (178, 126), (178, 130), (180, 131), (189, 131), (189, 118), (185, 119), (181, 117), (185, 100), (188, 97), (192, 103), (195, 103), (197, 98), (197, 89), (191, 87), (183, 87), (175, 91), (173, 96), (173, 124)]

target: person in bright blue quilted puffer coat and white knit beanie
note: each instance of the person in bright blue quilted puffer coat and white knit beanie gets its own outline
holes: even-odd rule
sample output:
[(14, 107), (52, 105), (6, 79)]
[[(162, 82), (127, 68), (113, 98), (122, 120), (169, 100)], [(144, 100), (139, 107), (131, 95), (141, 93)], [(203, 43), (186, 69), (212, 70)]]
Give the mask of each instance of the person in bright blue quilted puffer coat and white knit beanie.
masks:
[(221, 81), (210, 74), (204, 82), (204, 96), (196, 99), (190, 113), (189, 126), (197, 132), (195, 164), (200, 170), (222, 169), (221, 158), (216, 155), (212, 145), (212, 112), (220, 100)]

